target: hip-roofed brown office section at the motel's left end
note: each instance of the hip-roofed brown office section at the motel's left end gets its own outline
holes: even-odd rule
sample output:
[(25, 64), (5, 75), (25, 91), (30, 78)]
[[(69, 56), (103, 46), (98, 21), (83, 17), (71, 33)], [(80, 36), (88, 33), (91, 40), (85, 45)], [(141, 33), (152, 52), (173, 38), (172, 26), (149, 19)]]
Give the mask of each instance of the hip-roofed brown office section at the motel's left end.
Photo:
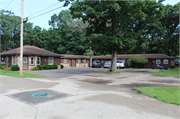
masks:
[[(1, 61), (6, 61), (8, 56), (8, 66), (20, 66), (20, 47), (0, 53)], [(62, 56), (35, 46), (23, 46), (23, 69), (29, 70), (37, 65), (57, 65), (60, 68), (60, 58)]]

